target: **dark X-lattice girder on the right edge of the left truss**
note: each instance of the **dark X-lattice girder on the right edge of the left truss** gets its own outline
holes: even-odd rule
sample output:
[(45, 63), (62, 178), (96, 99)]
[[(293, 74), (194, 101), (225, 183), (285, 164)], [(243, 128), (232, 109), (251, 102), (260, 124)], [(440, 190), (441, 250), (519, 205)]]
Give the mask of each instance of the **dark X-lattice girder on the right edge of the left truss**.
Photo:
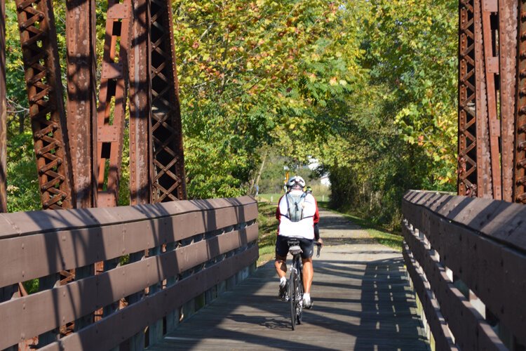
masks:
[(186, 199), (171, 1), (151, 0), (151, 138), (154, 202)]

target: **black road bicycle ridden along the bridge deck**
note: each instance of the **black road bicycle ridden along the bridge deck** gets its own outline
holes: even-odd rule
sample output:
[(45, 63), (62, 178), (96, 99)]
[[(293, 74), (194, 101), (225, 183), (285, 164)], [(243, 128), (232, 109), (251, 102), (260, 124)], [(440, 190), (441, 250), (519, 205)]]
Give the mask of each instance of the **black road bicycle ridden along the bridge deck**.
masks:
[[(318, 245), (316, 257), (320, 257), (321, 244)], [(292, 265), (290, 267), (290, 277), (288, 280), (288, 300), (290, 303), (290, 321), (292, 330), (296, 329), (296, 323), (302, 324), (303, 317), (303, 264), (301, 260), (302, 249), (299, 247), (298, 239), (288, 240), (288, 251), (292, 255)]]

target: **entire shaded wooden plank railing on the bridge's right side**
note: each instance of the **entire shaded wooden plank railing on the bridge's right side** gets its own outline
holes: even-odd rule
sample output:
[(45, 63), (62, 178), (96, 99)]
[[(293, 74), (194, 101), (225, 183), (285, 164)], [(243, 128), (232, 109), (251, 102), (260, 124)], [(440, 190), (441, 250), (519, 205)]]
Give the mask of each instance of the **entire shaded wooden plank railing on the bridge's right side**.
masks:
[(526, 206), (410, 191), (403, 216), (403, 255), (436, 349), (522, 350)]

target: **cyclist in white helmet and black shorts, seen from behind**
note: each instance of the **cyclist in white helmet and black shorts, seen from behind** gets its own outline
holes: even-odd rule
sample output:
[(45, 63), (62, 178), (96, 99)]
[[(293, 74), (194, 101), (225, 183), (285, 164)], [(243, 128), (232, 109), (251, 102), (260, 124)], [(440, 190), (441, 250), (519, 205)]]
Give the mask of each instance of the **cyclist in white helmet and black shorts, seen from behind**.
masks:
[[(286, 299), (287, 293), (287, 253), (288, 238), (298, 237), (302, 249), (303, 263), (303, 306), (311, 308), (311, 284), (314, 275), (312, 255), (314, 247), (314, 225), (318, 223), (320, 215), (318, 205), (312, 194), (303, 191), (305, 180), (294, 176), (288, 180), (288, 192), (278, 201), (276, 218), (279, 220), (278, 237), (276, 238), (276, 272), (280, 279), (279, 297)], [(318, 237), (318, 242), (323, 245), (323, 240)]]

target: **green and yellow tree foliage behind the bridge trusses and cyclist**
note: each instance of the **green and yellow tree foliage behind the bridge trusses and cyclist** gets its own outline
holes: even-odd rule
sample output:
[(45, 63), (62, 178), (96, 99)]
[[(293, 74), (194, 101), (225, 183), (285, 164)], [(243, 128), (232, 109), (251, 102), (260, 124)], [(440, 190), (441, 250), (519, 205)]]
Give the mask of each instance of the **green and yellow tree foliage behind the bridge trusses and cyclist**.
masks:
[[(65, 67), (65, 3), (53, 4)], [(8, 206), (25, 211), (40, 207), (39, 192), (15, 4), (6, 6)], [(189, 197), (247, 193), (267, 152), (260, 192), (280, 192), (283, 166), (315, 157), (331, 204), (374, 223), (396, 223), (409, 188), (453, 189), (455, 1), (175, 0), (173, 10)], [(129, 197), (124, 145), (119, 204)]]

